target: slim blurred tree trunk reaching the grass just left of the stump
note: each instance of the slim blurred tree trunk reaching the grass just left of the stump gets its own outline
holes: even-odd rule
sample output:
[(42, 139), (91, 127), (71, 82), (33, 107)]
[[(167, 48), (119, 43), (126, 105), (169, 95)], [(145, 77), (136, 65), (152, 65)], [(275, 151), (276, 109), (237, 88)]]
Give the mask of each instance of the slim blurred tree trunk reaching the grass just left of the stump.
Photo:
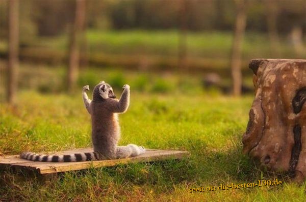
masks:
[(246, 3), (244, 0), (237, 0), (237, 16), (234, 40), (232, 46), (232, 78), (233, 78), (233, 94), (241, 95), (242, 75), (241, 75), (241, 48), (246, 26)]

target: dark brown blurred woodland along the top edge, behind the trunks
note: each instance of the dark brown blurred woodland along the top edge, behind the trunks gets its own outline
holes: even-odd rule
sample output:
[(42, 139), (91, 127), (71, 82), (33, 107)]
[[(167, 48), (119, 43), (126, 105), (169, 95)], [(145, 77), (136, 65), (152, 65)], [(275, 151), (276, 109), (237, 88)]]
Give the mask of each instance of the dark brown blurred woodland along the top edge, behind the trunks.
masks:
[[(299, 25), (305, 31), (305, 1), (250, 1), (247, 10), (247, 30), (266, 32), (266, 15), (277, 12), (276, 27), (279, 33), (289, 33)], [(0, 4), (1, 24), (5, 25), (7, 1)], [(179, 27), (179, 1), (88, 0), (87, 22), (89, 28), (150, 30), (175, 29)], [(235, 25), (234, 1), (194, 0), (186, 1), (191, 10), (187, 16), (188, 30), (232, 31)], [(275, 9), (270, 8), (271, 4)], [(75, 4), (73, 0), (28, 0), (20, 2), (20, 26), (28, 35), (54, 36), (67, 32), (73, 22)], [(267, 8), (269, 12), (267, 12)], [(60, 19), (60, 20), (59, 20)], [(25, 32), (25, 31), (28, 32)], [(1, 31), (3, 37), (5, 31)]]

